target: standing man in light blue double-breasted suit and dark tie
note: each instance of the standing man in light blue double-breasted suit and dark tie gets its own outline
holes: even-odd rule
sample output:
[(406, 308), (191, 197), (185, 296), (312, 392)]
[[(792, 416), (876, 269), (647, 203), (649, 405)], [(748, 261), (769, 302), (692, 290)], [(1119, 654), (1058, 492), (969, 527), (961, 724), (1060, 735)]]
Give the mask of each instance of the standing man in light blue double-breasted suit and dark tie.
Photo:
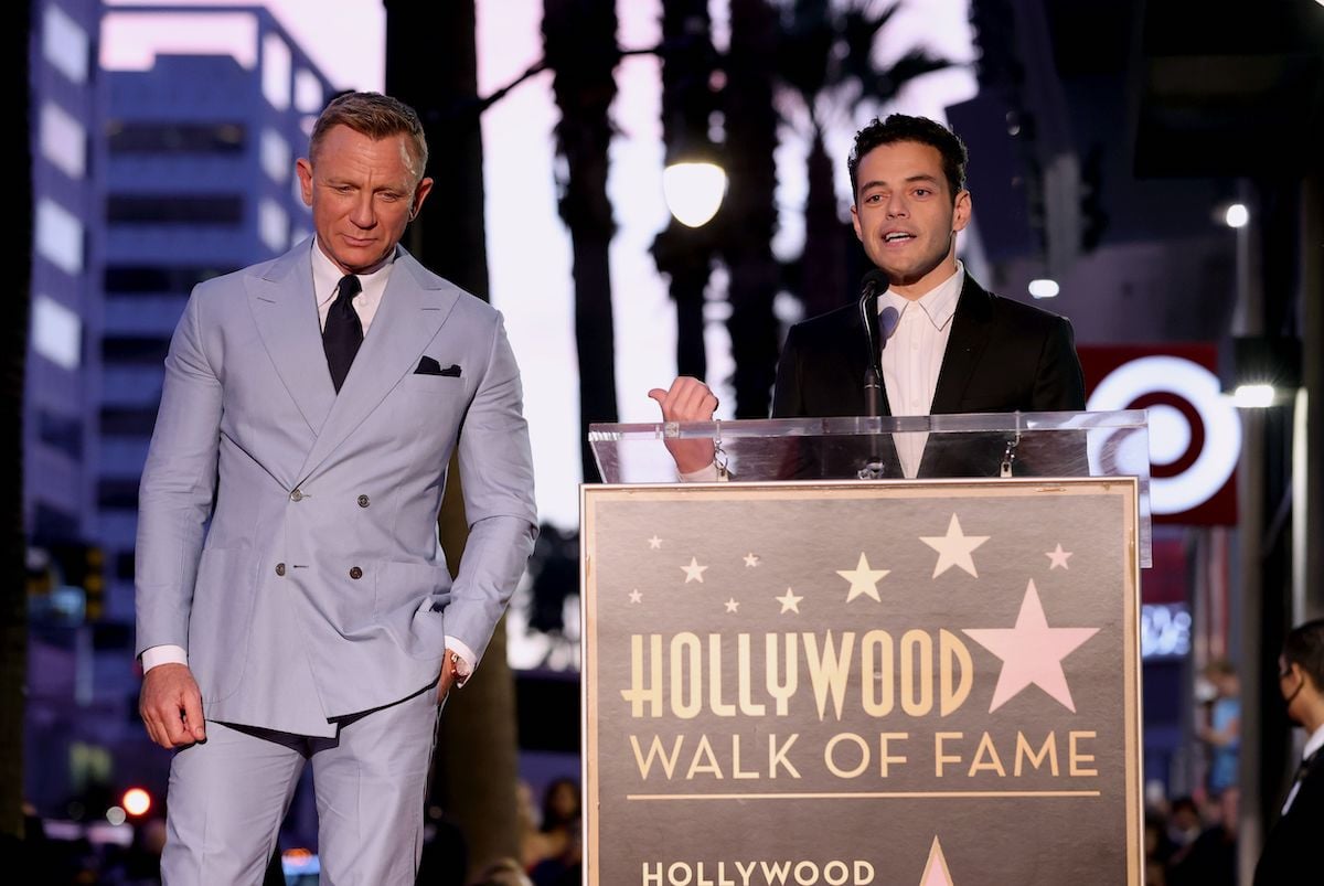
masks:
[(408, 106), (332, 101), (297, 167), (316, 236), (199, 285), (171, 342), (136, 555), (168, 886), (260, 883), (307, 762), (323, 882), (414, 882), (437, 714), (538, 523), (502, 318), (399, 245), (426, 160)]

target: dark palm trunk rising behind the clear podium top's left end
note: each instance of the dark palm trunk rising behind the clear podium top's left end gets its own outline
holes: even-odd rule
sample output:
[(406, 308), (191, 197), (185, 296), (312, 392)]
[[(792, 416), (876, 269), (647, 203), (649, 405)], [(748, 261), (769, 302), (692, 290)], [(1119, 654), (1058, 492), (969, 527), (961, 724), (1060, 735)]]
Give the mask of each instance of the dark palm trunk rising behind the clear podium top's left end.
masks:
[(553, 72), (560, 215), (571, 232), (575, 277), (575, 340), (579, 354), (580, 460), (585, 482), (597, 477), (588, 425), (614, 422), (616, 347), (612, 334), (612, 277), (608, 249), (616, 233), (606, 195), (609, 118), (616, 98), (613, 0), (544, 0), (543, 57)]

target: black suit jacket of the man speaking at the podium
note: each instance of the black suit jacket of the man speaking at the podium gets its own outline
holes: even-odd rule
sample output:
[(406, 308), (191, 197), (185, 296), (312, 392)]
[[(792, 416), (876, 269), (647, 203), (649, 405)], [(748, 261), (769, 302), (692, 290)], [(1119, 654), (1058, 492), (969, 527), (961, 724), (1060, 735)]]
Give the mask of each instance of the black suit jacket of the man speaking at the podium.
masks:
[[(777, 364), (773, 418), (820, 418), (866, 413), (865, 369), (869, 346), (855, 303), (797, 323), (786, 335)], [(1075, 335), (1064, 317), (994, 295), (968, 273), (952, 317), (947, 354), (933, 392), (932, 415), (967, 412), (1080, 412), (1084, 375)], [(883, 415), (890, 416), (883, 391)], [(1005, 450), (1002, 436), (972, 438), (957, 456), (944, 448), (925, 452), (920, 477), (997, 475)], [(1022, 440), (1022, 446), (1025, 440)], [(1034, 449), (1034, 446), (1029, 446)], [(1025, 464), (1026, 450), (1018, 461)], [(895, 473), (895, 450), (883, 454)], [(1033, 473), (1045, 470), (1042, 462)], [(821, 465), (796, 475), (846, 477), (843, 465)]]

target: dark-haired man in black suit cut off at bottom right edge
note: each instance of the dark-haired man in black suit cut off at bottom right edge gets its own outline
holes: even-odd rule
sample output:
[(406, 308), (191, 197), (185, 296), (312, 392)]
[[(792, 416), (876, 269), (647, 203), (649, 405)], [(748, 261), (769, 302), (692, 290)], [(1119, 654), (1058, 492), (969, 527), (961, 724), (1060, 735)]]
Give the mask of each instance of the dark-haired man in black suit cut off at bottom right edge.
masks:
[(1283, 811), (1255, 865), (1255, 886), (1316, 882), (1324, 834), (1324, 618), (1298, 625), (1278, 657), (1278, 689), (1287, 715), (1308, 738)]

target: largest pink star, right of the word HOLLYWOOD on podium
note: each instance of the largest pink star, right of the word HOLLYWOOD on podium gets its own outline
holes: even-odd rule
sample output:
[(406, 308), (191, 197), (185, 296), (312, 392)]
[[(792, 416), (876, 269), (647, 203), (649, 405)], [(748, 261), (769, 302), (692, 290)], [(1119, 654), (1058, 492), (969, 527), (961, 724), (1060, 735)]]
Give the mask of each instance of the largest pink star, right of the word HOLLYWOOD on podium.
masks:
[(1072, 714), (1075, 703), (1062, 670), (1062, 660), (1099, 633), (1098, 628), (1050, 628), (1034, 580), (1025, 589), (1014, 628), (967, 628), (974, 642), (1002, 660), (989, 714), (1034, 683)]

